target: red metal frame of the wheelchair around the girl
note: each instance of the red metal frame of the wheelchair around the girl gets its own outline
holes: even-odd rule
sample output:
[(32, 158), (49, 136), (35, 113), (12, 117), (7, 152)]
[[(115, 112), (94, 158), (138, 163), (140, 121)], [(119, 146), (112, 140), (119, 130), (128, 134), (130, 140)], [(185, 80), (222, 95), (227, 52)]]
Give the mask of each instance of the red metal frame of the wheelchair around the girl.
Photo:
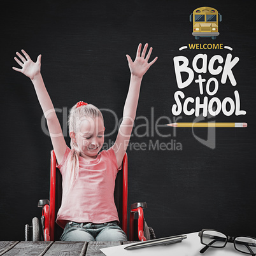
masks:
[[(55, 240), (55, 204), (56, 202), (56, 157), (55, 153), (52, 150), (51, 152), (51, 162), (50, 162), (50, 201), (49, 200), (39, 200), (38, 207), (42, 207), (42, 229), (43, 229), (43, 240), (44, 241), (54, 241)], [(120, 171), (119, 171), (120, 172)], [(118, 172), (118, 173), (119, 173)], [(116, 182), (117, 187), (117, 182)], [(117, 188), (115, 188), (116, 190)], [(127, 235), (127, 197), (128, 197), (128, 159), (127, 153), (124, 155), (122, 162), (122, 216), (119, 216), (120, 220), (122, 219), (122, 229)], [(155, 234), (151, 227), (147, 227), (143, 208), (146, 208), (146, 203), (135, 203), (131, 205), (130, 212), (130, 225), (129, 225), (129, 240), (134, 240), (134, 218), (135, 214), (138, 213), (138, 239), (139, 241), (146, 241), (147, 239), (155, 239)], [(120, 213), (118, 212), (118, 215)], [(121, 222), (121, 221), (120, 221)], [(137, 220), (136, 220), (137, 222)], [(148, 229), (147, 231), (145, 230)], [(145, 235), (146, 234), (146, 235)], [(146, 236), (146, 237), (145, 237)]]

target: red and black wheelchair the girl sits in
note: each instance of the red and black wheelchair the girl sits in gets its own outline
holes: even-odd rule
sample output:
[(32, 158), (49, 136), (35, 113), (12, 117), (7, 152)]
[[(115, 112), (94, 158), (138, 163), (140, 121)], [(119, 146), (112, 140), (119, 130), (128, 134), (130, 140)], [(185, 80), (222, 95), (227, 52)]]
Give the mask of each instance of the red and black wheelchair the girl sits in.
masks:
[[(127, 199), (128, 199), (128, 159), (124, 155), (122, 169), (118, 171), (115, 180), (115, 205), (117, 206), (120, 227), (129, 241), (146, 241), (155, 239), (152, 227), (148, 227), (144, 218), (145, 202), (131, 204), (129, 236), (127, 234)], [(37, 217), (32, 219), (32, 225), (25, 225), (25, 241), (58, 241), (63, 229), (56, 224), (57, 212), (62, 199), (62, 176), (56, 167), (55, 153), (51, 151), (50, 160), (50, 200), (41, 199), (38, 207), (42, 208), (41, 224)], [(138, 218), (135, 218), (138, 213)], [(31, 232), (32, 231), (32, 232)]]

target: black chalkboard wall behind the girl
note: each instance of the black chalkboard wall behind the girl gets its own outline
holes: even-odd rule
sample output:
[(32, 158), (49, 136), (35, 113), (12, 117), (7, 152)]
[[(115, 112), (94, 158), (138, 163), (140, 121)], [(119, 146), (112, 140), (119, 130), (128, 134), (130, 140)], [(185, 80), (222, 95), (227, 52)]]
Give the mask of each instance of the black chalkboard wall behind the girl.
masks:
[[(190, 14), (211, 6), (222, 15), (216, 39), (192, 36)], [(11, 69), (22, 48), (33, 60), (42, 54), (41, 73), (69, 145), (66, 118), (78, 101), (103, 110), (105, 143), (117, 136), (129, 88), (126, 54), (135, 57), (139, 43), (153, 46), (159, 59), (143, 78), (137, 118), (127, 149), (129, 204), (146, 201), (145, 218), (157, 238), (218, 229), (231, 236), (256, 236), (255, 166), (255, 1), (6, 1), (1, 11), (0, 240), (24, 239), (24, 225), (40, 215), (39, 199), (48, 198), (50, 150), (43, 113), (29, 78)], [(189, 45), (199, 44), (195, 49)], [(214, 49), (213, 44), (228, 48)], [(204, 46), (205, 45), (205, 46)], [(210, 46), (208, 46), (210, 45)], [(187, 46), (183, 50), (180, 47)], [(204, 48), (206, 47), (206, 48)], [(218, 81), (214, 96), (200, 94), (193, 82), (177, 86), (174, 57), (185, 56), (188, 67), (197, 54), (239, 58), (228, 77)], [(218, 63), (215, 62), (214, 68)], [(203, 65), (198, 62), (198, 68)], [(220, 66), (224, 67), (224, 63)], [(201, 73), (206, 82), (212, 77)], [(187, 79), (187, 74), (182, 74)], [(205, 86), (205, 83), (204, 83)], [(174, 94), (185, 98), (226, 97), (246, 115), (222, 111), (204, 122), (246, 122), (246, 128), (191, 129), (167, 127), (169, 122), (195, 122), (195, 115), (177, 116)], [(214, 90), (213, 83), (209, 87)], [(189, 109), (194, 106), (188, 104)], [(229, 104), (227, 104), (229, 110)], [(115, 113), (115, 114), (113, 114)], [(199, 117), (200, 118), (200, 117)], [(201, 141), (200, 141), (201, 139)]]

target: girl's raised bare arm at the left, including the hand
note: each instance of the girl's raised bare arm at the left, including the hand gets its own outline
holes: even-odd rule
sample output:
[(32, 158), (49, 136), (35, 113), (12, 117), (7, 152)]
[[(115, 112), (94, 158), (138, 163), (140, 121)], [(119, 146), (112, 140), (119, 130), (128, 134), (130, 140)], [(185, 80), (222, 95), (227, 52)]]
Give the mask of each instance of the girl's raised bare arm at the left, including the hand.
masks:
[(38, 101), (47, 121), (50, 137), (52, 139), (53, 150), (55, 152), (57, 161), (60, 162), (66, 151), (66, 142), (62, 134), (62, 129), (60, 127), (52, 101), (41, 76), (41, 54), (38, 56), (36, 62), (33, 62), (24, 50), (22, 50), (22, 53), (25, 57), (17, 52), (20, 60), (17, 57), (14, 58), (22, 68), (18, 69), (13, 67), (13, 69), (23, 73), (25, 76), (31, 79), (34, 89), (36, 90), (36, 95), (38, 96)]

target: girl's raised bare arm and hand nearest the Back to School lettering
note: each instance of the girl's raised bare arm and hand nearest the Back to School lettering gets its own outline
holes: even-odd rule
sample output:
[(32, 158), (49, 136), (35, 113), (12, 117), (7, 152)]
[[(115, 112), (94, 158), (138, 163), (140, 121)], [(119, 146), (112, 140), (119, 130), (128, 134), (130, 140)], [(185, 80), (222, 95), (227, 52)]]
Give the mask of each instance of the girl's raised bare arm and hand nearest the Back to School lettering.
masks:
[(147, 48), (148, 44), (146, 43), (141, 53), (141, 43), (139, 44), (136, 59), (134, 60), (134, 62), (132, 62), (132, 59), (129, 55), (126, 55), (129, 68), (131, 71), (131, 80), (127, 98), (124, 105), (123, 120), (119, 127), (117, 139), (115, 141), (115, 144), (113, 145), (113, 150), (117, 157), (118, 167), (121, 166), (122, 164), (124, 154), (127, 150), (127, 146), (131, 138), (132, 127), (134, 124), (136, 110), (138, 106), (139, 90), (141, 87), (143, 75), (145, 75), (146, 71), (157, 60), (157, 57), (155, 57), (155, 59), (153, 59), (152, 62), (148, 63), (148, 59), (150, 58), (150, 55), (152, 53), (152, 47), (150, 48), (148, 54), (146, 55)]

